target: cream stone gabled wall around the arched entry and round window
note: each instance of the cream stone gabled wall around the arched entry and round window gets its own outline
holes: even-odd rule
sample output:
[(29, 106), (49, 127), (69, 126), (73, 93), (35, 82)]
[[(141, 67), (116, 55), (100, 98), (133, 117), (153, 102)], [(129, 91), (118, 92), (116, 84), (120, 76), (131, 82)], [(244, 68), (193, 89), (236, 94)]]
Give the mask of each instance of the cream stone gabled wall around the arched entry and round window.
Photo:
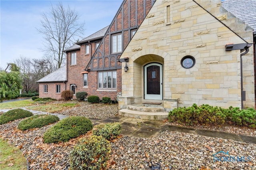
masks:
[[(196, 2), (207, 6), (206, 9), (214, 16), (224, 11), (220, 8), (220, 0)], [(122, 71), (120, 109), (129, 104), (126, 103), (128, 98), (129, 101), (132, 98), (143, 101), (143, 67), (150, 62), (163, 64), (166, 111), (191, 106), (193, 103), (224, 108), (231, 105), (241, 107), (240, 50), (225, 51), (225, 45), (246, 43), (244, 40), (250, 43), (252, 40), (240, 38), (196, 2), (156, 0), (120, 57), (130, 58), (128, 72)], [(169, 18), (167, 6), (170, 6)], [(226, 25), (235, 24), (231, 20)], [(252, 31), (249, 32), (252, 35)], [(186, 55), (192, 55), (196, 59), (196, 64), (191, 69), (184, 69), (180, 65), (182, 57)], [(253, 56), (250, 53), (243, 57), (245, 107), (254, 107), (252, 62)], [(124, 67), (124, 63), (122, 65)], [(178, 100), (176, 106), (175, 100)]]

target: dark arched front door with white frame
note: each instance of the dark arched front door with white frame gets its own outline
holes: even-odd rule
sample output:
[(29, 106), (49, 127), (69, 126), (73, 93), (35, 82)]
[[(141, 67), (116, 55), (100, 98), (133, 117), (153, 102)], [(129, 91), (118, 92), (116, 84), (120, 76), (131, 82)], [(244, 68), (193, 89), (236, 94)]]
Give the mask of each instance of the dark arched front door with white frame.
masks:
[(163, 72), (160, 63), (144, 66), (144, 99), (163, 99)]

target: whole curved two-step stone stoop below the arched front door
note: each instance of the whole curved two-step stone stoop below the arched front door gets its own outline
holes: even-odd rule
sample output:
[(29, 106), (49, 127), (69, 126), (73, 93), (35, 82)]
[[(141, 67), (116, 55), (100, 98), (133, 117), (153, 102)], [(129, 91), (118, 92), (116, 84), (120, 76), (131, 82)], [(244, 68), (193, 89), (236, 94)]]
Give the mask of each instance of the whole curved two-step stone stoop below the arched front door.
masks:
[(127, 109), (118, 111), (119, 115), (144, 120), (164, 120), (168, 119), (168, 112), (164, 112), (163, 105), (132, 104)]

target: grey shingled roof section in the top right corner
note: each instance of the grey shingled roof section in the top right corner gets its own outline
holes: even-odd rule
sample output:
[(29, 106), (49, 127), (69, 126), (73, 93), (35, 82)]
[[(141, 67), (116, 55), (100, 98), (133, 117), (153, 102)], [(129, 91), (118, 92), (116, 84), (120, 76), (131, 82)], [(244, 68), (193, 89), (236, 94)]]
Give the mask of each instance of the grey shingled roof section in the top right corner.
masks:
[(222, 7), (256, 32), (256, 0), (223, 0)]

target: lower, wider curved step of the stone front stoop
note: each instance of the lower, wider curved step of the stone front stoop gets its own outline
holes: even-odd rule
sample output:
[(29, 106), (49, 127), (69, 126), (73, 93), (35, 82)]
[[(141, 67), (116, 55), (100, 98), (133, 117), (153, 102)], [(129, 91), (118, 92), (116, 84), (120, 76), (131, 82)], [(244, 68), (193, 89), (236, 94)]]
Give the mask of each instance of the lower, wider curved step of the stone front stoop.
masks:
[(144, 120), (164, 120), (168, 119), (168, 112), (142, 112), (142, 111), (134, 111), (129, 109), (122, 109), (118, 111), (119, 115), (125, 117), (131, 117), (135, 119), (144, 119)]

